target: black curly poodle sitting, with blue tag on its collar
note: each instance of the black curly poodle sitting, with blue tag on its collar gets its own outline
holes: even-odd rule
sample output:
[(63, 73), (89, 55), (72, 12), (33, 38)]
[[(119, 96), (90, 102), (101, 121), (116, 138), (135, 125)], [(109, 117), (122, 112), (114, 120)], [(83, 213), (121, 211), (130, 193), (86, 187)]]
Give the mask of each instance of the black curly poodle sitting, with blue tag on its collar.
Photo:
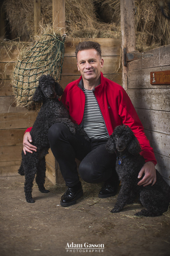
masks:
[(133, 203), (137, 194), (146, 209), (135, 213), (136, 216), (153, 217), (166, 212), (170, 203), (170, 187), (157, 170), (157, 181), (153, 186), (137, 185), (137, 176), (145, 161), (139, 154), (140, 145), (129, 126), (117, 126), (107, 141), (106, 148), (108, 152), (117, 154), (116, 172), (121, 180), (120, 192), (111, 212), (120, 212), (125, 204)]

